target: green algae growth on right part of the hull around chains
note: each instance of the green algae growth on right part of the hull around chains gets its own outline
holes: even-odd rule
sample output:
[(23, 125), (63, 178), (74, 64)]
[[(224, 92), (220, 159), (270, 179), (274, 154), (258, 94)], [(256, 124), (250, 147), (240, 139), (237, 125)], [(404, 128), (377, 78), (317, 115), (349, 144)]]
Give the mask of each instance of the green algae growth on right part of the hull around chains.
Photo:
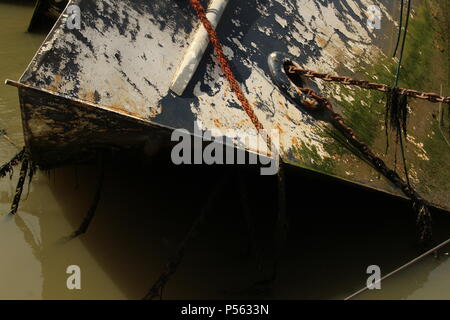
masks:
[[(444, 5), (444, 1), (426, 0), (413, 9), (400, 70), (400, 87), (439, 92), (440, 85), (443, 84), (444, 95), (448, 92), (448, 46), (445, 37), (448, 33), (442, 10), (438, 10)], [(391, 54), (385, 52), (376, 63), (360, 64), (352, 76), (393, 84), (398, 59), (392, 58)], [(328, 97), (333, 98), (336, 110), (344, 116), (358, 138), (368, 144), (386, 164), (404, 176), (395, 134), (389, 130), (389, 139), (386, 139), (386, 94), (336, 83), (325, 84), (325, 91)], [(438, 104), (410, 99), (409, 108), (406, 143), (409, 176), (414, 187), (427, 200), (449, 210), (450, 148), (439, 132), (446, 132), (448, 128), (439, 129), (436, 116)], [(369, 165), (360, 164), (348, 143), (331, 126), (323, 130), (320, 136), (324, 138), (324, 150), (331, 157), (322, 157), (316, 149), (306, 145), (293, 147), (292, 152), (300, 159), (309, 159), (305, 162), (316, 171), (340, 178), (348, 177), (354, 182), (401, 195)], [(386, 153), (387, 142), (389, 149)]]

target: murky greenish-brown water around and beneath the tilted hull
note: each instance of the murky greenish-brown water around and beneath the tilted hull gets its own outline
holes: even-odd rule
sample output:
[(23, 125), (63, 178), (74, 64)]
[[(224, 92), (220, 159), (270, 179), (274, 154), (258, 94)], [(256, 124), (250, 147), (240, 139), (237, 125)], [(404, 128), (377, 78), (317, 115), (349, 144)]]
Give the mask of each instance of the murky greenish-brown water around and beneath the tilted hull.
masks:
[[(44, 39), (25, 32), (31, 13), (31, 6), (0, 2), (1, 81), (18, 79)], [(4, 163), (23, 144), (17, 89), (5, 85), (0, 85), (0, 129), (11, 139), (0, 138)], [(138, 160), (131, 165), (123, 160), (108, 164), (97, 216), (86, 235), (69, 242), (61, 239), (78, 226), (90, 205), (95, 166), (39, 173), (30, 190), (25, 189), (15, 217), (6, 213), (17, 174), (0, 182), (1, 299), (138, 299), (146, 293), (198, 214), (206, 198), (203, 192), (219, 171), (200, 175), (196, 169), (170, 166), (164, 159)], [(296, 179), (312, 183), (304, 176)], [(266, 248), (262, 244), (271, 237), (274, 209), (268, 199), (274, 198), (270, 189), (274, 181), (253, 180), (249, 180), (250, 203), (262, 230), (259, 243)], [(368, 265), (379, 264), (387, 273), (418, 255), (407, 204), (380, 195), (367, 198), (373, 201), (367, 207), (330, 199), (342, 206), (337, 214), (316, 194), (300, 188), (288, 181), (291, 236), (273, 290), (250, 288), (268, 270), (260, 270), (245, 253), (247, 230), (232, 181), (186, 252), (165, 297), (341, 299), (365, 284)], [(327, 192), (326, 186), (322, 188)], [(355, 197), (362, 197), (361, 192), (352, 189)], [(439, 224), (444, 239), (449, 219)], [(442, 250), (439, 260), (428, 257), (383, 282), (382, 290), (358, 298), (450, 299), (450, 260), (444, 254), (449, 250)], [(66, 286), (70, 265), (81, 268), (81, 290)]]

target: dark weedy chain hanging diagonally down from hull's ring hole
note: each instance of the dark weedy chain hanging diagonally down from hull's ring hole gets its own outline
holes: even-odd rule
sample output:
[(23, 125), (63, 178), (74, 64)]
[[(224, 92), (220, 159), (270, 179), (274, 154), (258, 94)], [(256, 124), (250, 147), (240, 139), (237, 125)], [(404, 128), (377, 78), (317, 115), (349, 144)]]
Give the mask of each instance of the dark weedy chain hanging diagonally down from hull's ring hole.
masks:
[(306, 108), (318, 111), (319, 109), (327, 111), (331, 116), (331, 123), (339, 130), (345, 138), (356, 147), (361, 154), (375, 167), (375, 169), (385, 176), (391, 183), (398, 187), (402, 192), (411, 199), (413, 202), (413, 208), (417, 212), (418, 225), (420, 228), (420, 241), (425, 243), (430, 240), (431, 237), (431, 216), (428, 209), (428, 203), (424, 200), (407, 182), (392, 169), (385, 164), (385, 162), (377, 157), (369, 146), (364, 142), (361, 142), (353, 129), (345, 124), (344, 119), (340, 114), (333, 110), (333, 106), (329, 100), (325, 97), (318, 95), (314, 90), (309, 88), (297, 87), (299, 91), (305, 94), (307, 97), (317, 101), (316, 105), (304, 105)]

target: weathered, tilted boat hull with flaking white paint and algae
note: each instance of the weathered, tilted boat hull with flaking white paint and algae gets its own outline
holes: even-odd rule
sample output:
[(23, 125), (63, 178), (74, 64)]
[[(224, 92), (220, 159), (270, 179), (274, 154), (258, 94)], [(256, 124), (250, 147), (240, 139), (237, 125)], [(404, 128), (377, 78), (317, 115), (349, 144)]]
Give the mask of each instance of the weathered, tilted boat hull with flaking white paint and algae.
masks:
[[(218, 36), (257, 118), (266, 130), (278, 130), (282, 161), (402, 196), (349, 151), (327, 121), (289, 100), (268, 64), (277, 51), (290, 54), (300, 66), (334, 74), (354, 75), (361, 66), (376, 65), (395, 43), (396, 4), (377, 1), (381, 28), (372, 29), (367, 23), (372, 3), (365, 0), (224, 2)], [(98, 148), (145, 149), (169, 143), (175, 129), (194, 134), (195, 123), (212, 132), (254, 131), (211, 48), (183, 93), (170, 89), (200, 26), (188, 1), (72, 0), (66, 10), (71, 5), (80, 8), (81, 28), (69, 28), (71, 15), (64, 11), (19, 81), (9, 82), (19, 89), (25, 142), (35, 164), (50, 168), (89, 159)], [(356, 133), (384, 157), (384, 112), (367, 103), (368, 93), (355, 95), (320, 81), (314, 85), (334, 98)], [(442, 174), (428, 165), (442, 157), (433, 153), (436, 148), (427, 148), (430, 133), (437, 149), (449, 149), (436, 139), (435, 120), (431, 113), (424, 115), (426, 108), (418, 115), (426, 119), (420, 121), (421, 129), (413, 126), (408, 133), (411, 180), (432, 205), (450, 210), (445, 178), (449, 163), (438, 169)], [(239, 135), (230, 138), (236, 148), (271, 155), (240, 141)]]

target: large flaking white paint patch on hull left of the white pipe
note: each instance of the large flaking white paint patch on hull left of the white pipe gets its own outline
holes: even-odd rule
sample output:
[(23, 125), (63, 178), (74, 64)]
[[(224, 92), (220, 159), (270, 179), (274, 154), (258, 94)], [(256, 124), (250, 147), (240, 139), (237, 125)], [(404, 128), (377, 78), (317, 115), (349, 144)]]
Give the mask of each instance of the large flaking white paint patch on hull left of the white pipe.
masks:
[[(162, 66), (173, 70), (188, 35), (182, 30), (172, 30), (173, 37), (169, 37), (167, 29), (161, 30), (149, 14), (132, 10), (128, 1), (103, 0), (97, 1), (96, 6), (98, 12), (104, 12), (105, 7), (114, 7), (118, 21), (127, 21), (128, 27), (135, 31), (134, 40), (119, 26), (106, 28), (101, 19), (96, 20), (95, 25), (83, 25), (80, 31), (69, 30), (65, 23), (68, 16), (64, 13), (60, 29), (44, 43), (39, 55), (45, 57), (50, 51), (70, 52), (69, 56), (60, 56), (59, 68), (64, 69), (72, 63), (77, 71), (62, 75), (61, 81), (53, 79), (47, 88), (65, 97), (111, 106), (115, 111), (123, 110), (142, 119), (154, 117), (161, 112), (159, 101), (168, 92), (170, 83), (169, 77), (162, 77), (154, 70), (160, 70)], [(145, 28), (140, 27), (144, 25)], [(77, 32), (89, 42), (79, 41)], [(30, 71), (38, 79), (55, 76), (54, 70), (45, 64), (36, 63)], [(90, 99), (93, 88), (99, 94), (99, 101)]]

